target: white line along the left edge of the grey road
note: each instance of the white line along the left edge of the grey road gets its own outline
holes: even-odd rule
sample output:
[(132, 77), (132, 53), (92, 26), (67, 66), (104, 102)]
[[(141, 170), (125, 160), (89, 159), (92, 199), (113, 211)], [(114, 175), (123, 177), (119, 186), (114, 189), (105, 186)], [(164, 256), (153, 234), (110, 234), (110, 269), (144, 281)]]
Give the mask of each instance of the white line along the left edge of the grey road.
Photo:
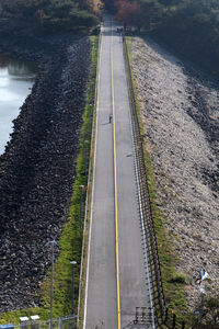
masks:
[(94, 161), (93, 161), (93, 181), (92, 181), (92, 198), (91, 198), (91, 218), (90, 218), (90, 229), (89, 229), (89, 248), (88, 248), (88, 264), (87, 264), (87, 280), (85, 280), (85, 296), (84, 296), (84, 313), (83, 313), (83, 329), (87, 325), (87, 309), (88, 309), (88, 286), (89, 286), (89, 270), (90, 270), (90, 253), (91, 253), (91, 231), (93, 222), (93, 197), (94, 197), (94, 182), (95, 182), (95, 166), (96, 166), (96, 144), (97, 144), (97, 122), (99, 122), (99, 91), (100, 91), (100, 66), (101, 66), (101, 53), (102, 53), (102, 34), (100, 33), (101, 44), (99, 53), (99, 88), (97, 88), (97, 100), (96, 100), (96, 125), (95, 125), (95, 148), (94, 148)]

